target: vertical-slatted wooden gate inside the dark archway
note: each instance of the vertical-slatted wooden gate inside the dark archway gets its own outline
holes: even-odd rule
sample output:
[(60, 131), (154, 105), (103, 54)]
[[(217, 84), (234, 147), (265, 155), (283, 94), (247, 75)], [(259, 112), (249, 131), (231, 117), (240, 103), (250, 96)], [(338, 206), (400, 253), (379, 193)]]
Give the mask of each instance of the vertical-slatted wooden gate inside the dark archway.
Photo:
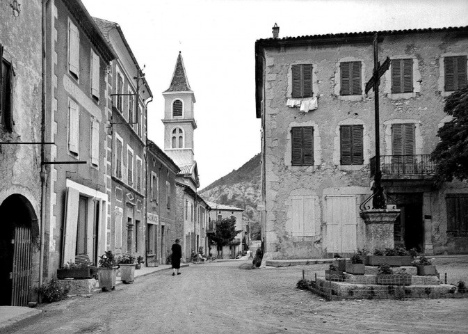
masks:
[(26, 306), (31, 289), (31, 229), (15, 227), (12, 306)]

